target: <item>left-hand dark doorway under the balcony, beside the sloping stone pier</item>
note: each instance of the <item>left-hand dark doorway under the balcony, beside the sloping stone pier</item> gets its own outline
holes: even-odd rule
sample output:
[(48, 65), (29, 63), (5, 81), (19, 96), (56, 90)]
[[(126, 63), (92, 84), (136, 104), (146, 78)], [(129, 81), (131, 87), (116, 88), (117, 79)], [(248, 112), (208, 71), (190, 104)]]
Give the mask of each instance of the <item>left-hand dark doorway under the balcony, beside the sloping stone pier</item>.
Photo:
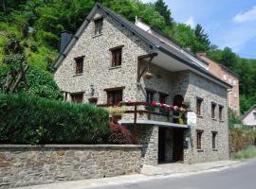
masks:
[(158, 131), (158, 163), (165, 162), (166, 129), (159, 128)]

